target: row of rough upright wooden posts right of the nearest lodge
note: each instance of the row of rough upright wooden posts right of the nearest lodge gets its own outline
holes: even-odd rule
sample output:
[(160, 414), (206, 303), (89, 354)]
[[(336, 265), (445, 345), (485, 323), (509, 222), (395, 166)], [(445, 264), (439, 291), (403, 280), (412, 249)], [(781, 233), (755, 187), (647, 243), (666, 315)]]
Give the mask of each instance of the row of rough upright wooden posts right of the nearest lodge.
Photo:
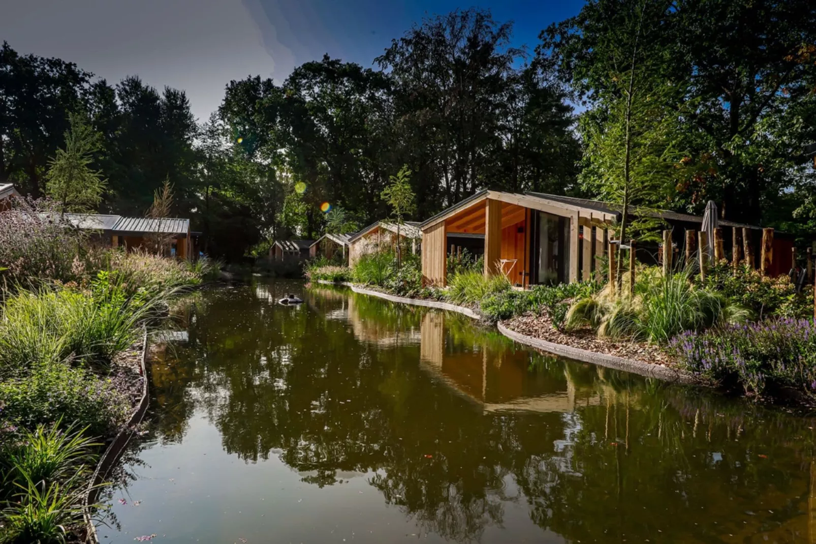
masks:
[[(734, 270), (737, 270), (739, 263), (744, 261), (747, 265), (753, 268), (754, 265), (754, 250), (751, 243), (751, 230), (746, 227), (738, 228), (732, 227), (732, 255), (731, 264)], [(697, 251), (697, 240), (699, 239), (699, 252)], [(619, 242), (610, 240), (609, 245), (609, 279), (610, 288), (614, 292), (618, 287), (617, 274), (617, 253), (615, 251), (616, 245)], [(629, 242), (629, 292), (635, 292), (635, 252), (637, 241), (632, 239)], [(714, 261), (720, 262), (725, 259), (725, 244), (723, 239), (723, 230), (721, 227), (714, 229)], [(672, 270), (672, 257), (676, 248), (672, 244), (672, 231), (663, 230), (663, 244), (660, 252), (660, 261), (663, 264), (663, 274), (667, 275)], [(691, 265), (694, 262), (694, 253), (697, 253), (700, 267), (700, 279), (706, 279), (708, 273), (708, 233), (703, 230), (686, 230), (685, 231), (685, 264)], [(796, 247), (792, 247), (792, 266), (796, 268)], [(813, 275), (813, 251), (808, 247), (807, 252), (807, 277), (814, 282), (814, 319), (816, 319), (816, 278)], [(743, 256), (744, 258), (740, 258)], [(769, 274), (771, 265), (774, 263), (774, 230), (762, 230), (762, 247), (760, 253), (760, 273), (764, 276)]]

